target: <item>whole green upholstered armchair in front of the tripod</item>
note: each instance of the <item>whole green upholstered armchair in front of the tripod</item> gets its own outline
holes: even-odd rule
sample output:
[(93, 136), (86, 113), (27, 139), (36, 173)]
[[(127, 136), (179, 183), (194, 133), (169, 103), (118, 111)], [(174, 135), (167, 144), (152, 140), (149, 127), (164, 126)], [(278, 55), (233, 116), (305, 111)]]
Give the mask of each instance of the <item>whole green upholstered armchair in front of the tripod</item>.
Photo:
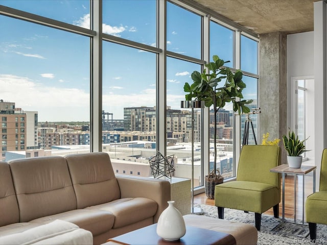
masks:
[(260, 231), (261, 214), (273, 207), (279, 216), (281, 202), (280, 174), (270, 169), (281, 164), (281, 149), (274, 145), (243, 145), (236, 181), (215, 187), (218, 217), (224, 218), (224, 208), (255, 213), (255, 227)]

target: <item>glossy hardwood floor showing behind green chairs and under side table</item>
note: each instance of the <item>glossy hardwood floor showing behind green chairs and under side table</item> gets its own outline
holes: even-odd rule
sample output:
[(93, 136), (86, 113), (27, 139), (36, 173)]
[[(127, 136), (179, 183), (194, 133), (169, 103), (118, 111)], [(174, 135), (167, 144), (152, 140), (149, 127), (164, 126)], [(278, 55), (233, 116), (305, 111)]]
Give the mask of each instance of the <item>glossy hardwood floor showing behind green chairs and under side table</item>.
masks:
[[(302, 220), (302, 176), (298, 176), (296, 181), (296, 218)], [(282, 188), (282, 179), (281, 179)], [(313, 177), (307, 175), (305, 177), (305, 201), (306, 197), (312, 193)], [(318, 191), (318, 189), (316, 189)], [(214, 199), (208, 199), (205, 193), (194, 196), (194, 204), (215, 205)], [(265, 212), (273, 215), (272, 208)], [(282, 217), (282, 190), (281, 203), (279, 203), (279, 216)], [(286, 176), (285, 178), (285, 217), (294, 218), (294, 176)]]

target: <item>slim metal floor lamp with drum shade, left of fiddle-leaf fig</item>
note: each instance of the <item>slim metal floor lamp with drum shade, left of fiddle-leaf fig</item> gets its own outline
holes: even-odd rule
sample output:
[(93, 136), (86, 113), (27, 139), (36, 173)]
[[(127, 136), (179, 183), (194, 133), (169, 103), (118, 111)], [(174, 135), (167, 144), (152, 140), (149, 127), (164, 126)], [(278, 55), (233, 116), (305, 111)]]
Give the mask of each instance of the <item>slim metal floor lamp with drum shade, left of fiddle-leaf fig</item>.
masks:
[(194, 108), (203, 108), (202, 101), (181, 101), (180, 103), (181, 108), (191, 108), (192, 109), (192, 178), (191, 178), (191, 213), (192, 214), (201, 214), (203, 213), (202, 208), (194, 207)]

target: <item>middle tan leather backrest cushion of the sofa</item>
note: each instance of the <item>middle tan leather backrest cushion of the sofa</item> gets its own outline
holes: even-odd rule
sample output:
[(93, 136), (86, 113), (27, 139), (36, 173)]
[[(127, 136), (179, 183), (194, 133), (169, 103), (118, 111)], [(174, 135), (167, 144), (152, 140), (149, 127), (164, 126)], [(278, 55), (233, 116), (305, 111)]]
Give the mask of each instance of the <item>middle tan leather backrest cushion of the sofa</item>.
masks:
[(24, 158), (8, 163), (20, 222), (76, 209), (76, 196), (64, 157)]

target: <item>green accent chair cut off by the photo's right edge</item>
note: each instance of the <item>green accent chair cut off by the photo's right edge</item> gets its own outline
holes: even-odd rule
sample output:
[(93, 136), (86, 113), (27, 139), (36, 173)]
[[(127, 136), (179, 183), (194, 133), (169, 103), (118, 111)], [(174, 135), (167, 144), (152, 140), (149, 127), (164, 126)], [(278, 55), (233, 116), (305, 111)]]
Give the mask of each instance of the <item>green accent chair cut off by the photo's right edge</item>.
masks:
[(309, 223), (310, 239), (317, 238), (317, 224), (327, 225), (327, 149), (321, 157), (319, 191), (306, 200), (306, 221)]

